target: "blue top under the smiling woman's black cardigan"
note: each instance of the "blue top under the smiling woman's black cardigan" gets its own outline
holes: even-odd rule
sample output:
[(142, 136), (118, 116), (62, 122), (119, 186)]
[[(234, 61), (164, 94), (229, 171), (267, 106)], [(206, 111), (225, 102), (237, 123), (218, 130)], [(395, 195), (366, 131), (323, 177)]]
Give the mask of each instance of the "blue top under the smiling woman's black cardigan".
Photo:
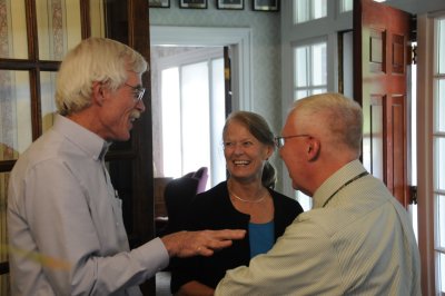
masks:
[(249, 223), (250, 258), (265, 254), (274, 246), (274, 221)]

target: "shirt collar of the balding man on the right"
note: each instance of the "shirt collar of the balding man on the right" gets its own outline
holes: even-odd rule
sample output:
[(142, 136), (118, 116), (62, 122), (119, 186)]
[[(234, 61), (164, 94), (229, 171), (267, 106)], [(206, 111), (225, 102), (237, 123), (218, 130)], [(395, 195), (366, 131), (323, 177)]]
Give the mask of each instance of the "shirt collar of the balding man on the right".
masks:
[(332, 196), (338, 188), (340, 188), (346, 181), (354, 178), (355, 176), (366, 171), (362, 162), (358, 160), (353, 160), (339, 170), (334, 172), (329, 178), (327, 178), (320, 187), (315, 191), (313, 201), (313, 208), (320, 208), (325, 201)]

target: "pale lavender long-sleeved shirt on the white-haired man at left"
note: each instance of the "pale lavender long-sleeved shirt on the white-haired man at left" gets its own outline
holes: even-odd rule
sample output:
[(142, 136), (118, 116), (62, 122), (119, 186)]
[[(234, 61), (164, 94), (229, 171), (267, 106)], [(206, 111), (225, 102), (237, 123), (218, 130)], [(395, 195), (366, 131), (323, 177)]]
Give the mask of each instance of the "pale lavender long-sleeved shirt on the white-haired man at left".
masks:
[(121, 200), (99, 157), (106, 148), (57, 116), (17, 161), (8, 195), (12, 295), (141, 295), (138, 285), (168, 265), (159, 238), (129, 250)]

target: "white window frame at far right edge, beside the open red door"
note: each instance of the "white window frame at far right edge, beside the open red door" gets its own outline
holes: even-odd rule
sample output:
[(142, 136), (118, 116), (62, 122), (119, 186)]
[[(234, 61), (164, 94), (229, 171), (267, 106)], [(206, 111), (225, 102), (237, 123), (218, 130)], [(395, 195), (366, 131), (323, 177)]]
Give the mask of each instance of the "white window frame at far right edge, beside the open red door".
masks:
[[(434, 138), (443, 137), (444, 135), (435, 132), (434, 98), (436, 91), (435, 79), (437, 79), (435, 55), (438, 53), (435, 50), (435, 19), (444, 18), (444, 11), (417, 16), (417, 213), (424, 295), (441, 295), (436, 234), (438, 227), (444, 226), (439, 226), (436, 219), (435, 194), (437, 190), (434, 189), (434, 179), (436, 178)], [(444, 273), (445, 270), (442, 272)]]

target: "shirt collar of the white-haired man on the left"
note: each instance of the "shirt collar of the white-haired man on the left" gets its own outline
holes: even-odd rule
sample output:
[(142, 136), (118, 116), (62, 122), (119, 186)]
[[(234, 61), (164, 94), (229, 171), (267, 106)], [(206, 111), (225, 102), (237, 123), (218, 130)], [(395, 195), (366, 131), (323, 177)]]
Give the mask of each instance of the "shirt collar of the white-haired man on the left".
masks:
[(111, 142), (107, 142), (97, 134), (61, 115), (56, 115), (53, 129), (63, 135), (72, 145), (90, 155), (95, 160), (103, 159), (111, 145)]

